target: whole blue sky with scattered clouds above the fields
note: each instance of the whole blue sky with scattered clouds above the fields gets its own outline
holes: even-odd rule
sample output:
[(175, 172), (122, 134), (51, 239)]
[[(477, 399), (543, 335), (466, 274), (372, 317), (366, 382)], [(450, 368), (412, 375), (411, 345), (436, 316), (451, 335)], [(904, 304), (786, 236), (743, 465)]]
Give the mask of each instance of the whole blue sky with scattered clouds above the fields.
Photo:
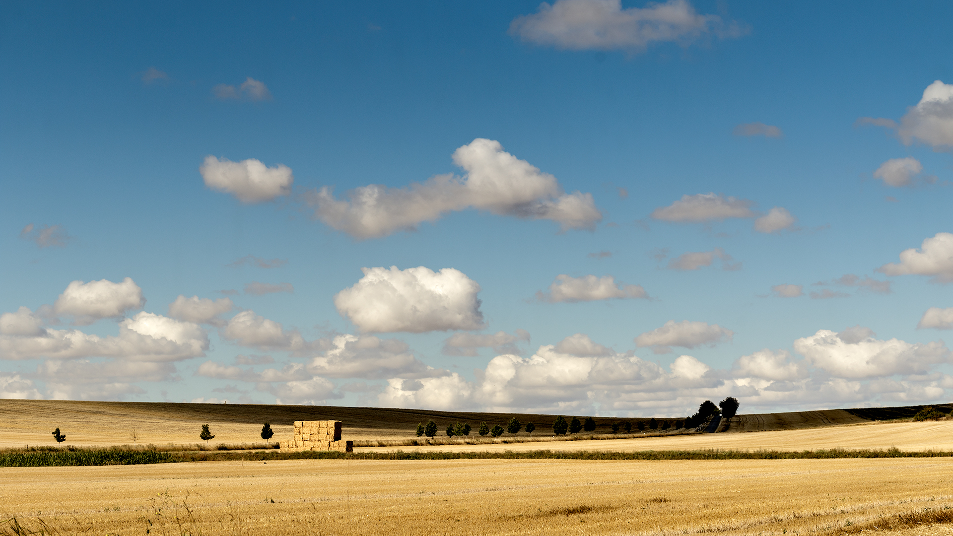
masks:
[(947, 401), (950, 15), (7, 4), (0, 397)]

